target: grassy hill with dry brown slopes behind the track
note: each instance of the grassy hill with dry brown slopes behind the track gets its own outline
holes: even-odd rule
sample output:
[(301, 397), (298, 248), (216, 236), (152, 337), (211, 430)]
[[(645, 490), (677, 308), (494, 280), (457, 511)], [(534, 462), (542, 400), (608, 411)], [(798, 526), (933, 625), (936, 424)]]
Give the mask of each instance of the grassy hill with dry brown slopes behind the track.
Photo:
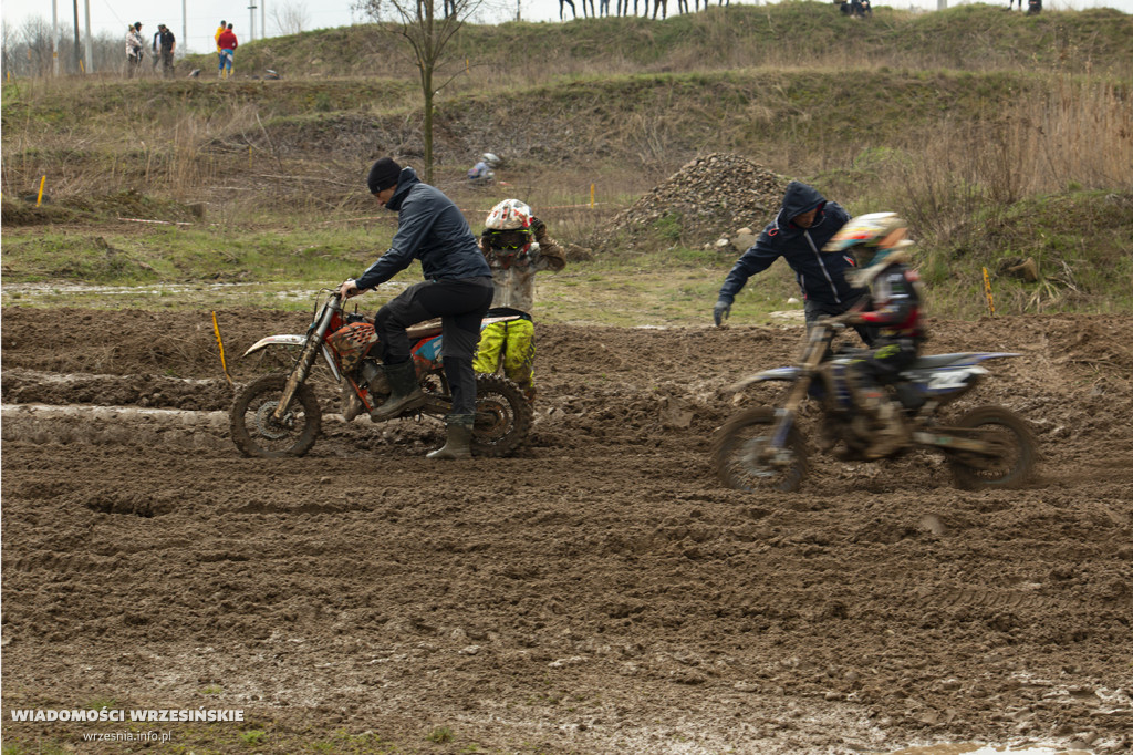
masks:
[[(43, 241), (44, 226), (93, 226), (103, 238), (122, 215), (196, 222), (205, 212), (228, 236), (317, 222), (318, 244), (340, 247), (334, 235), (374, 212), (367, 164), (386, 153), (420, 164), (419, 87), (386, 33), (257, 41), (225, 82), (199, 56), (180, 65), (199, 78), (6, 84), (6, 282), (44, 274), (10, 249), (63, 254)], [(600, 247), (619, 209), (690, 159), (730, 152), (853, 212), (904, 213), (937, 286), (957, 264), (1033, 256), (1050, 286), (1021, 289), (1020, 306), (1130, 302), (1114, 280), (1133, 278), (1133, 16), (971, 5), (878, 8), (860, 23), (791, 2), (658, 22), (470, 25), (452, 52), (454, 77), (438, 78), (434, 180), (472, 214), (520, 194), (569, 240)], [(282, 78), (258, 78), (267, 68)], [(510, 187), (462, 186), (485, 150), (504, 158)], [(35, 207), (26, 197), (43, 176), (50, 203)], [(389, 224), (375, 232), (381, 244)], [(658, 234), (654, 248), (672, 251), (675, 237)]]

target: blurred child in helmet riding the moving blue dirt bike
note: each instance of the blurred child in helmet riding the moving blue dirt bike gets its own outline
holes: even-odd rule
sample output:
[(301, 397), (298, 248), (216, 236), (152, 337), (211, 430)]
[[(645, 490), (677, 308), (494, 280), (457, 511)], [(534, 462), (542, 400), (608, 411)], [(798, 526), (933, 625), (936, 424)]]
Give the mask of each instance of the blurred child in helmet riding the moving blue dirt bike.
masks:
[(858, 270), (847, 278), (855, 286), (869, 288), (871, 311), (854, 308), (833, 320), (879, 329), (869, 356), (855, 360), (846, 371), (854, 405), (866, 415), (861, 419), (875, 425), (872, 433), (866, 433), (872, 438), (864, 451), (867, 459), (888, 456), (909, 442), (909, 429), (900, 409), (881, 390), (917, 359), (926, 338), (920, 277), (909, 266), (912, 241), (905, 238), (906, 231), (905, 222), (895, 213), (875, 212), (847, 222), (824, 247), (824, 252), (853, 255)]

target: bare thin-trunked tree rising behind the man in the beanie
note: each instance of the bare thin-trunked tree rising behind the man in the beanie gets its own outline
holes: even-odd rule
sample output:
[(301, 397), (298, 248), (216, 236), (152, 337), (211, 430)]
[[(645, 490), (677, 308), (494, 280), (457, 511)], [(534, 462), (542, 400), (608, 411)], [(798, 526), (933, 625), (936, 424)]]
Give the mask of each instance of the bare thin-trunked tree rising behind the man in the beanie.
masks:
[[(425, 180), (433, 180), (433, 100), (436, 77), (449, 62), (446, 49), (484, 0), (357, 0), (357, 8), (378, 23), (383, 33), (404, 41), (420, 76), (424, 99)], [(458, 71), (459, 73), (459, 71)], [(458, 74), (453, 74), (455, 76)], [(451, 77), (450, 77), (451, 80)]]

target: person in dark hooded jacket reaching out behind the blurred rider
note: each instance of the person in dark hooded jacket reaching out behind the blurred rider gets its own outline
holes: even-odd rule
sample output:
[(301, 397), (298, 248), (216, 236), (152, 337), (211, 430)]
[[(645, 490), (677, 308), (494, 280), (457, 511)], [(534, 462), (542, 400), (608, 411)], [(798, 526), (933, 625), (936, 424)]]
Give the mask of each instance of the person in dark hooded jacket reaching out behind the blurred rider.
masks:
[[(780, 257), (794, 270), (806, 300), (808, 325), (819, 317), (840, 315), (862, 300), (866, 289), (846, 281), (846, 271), (854, 266), (853, 258), (821, 253), (823, 246), (847, 220), (850, 214), (837, 202), (827, 202), (813, 187), (791, 181), (783, 195), (783, 209), (724, 279), (713, 308), (716, 325), (731, 313), (735, 295), (748, 279)], [(874, 342), (874, 328), (855, 325), (854, 330), (867, 345)]]

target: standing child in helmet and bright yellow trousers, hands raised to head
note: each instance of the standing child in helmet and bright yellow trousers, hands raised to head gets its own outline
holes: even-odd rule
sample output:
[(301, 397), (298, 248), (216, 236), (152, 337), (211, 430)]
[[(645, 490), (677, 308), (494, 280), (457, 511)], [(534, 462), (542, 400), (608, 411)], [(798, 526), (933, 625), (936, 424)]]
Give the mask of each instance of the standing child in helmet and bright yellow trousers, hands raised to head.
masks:
[(547, 227), (519, 200), (504, 200), (492, 207), (480, 235), (480, 251), (492, 268), (495, 291), (488, 317), (518, 315), (519, 320), (494, 322), (480, 331), (476, 372), (494, 373), (503, 363), (504, 374), (535, 400), (535, 274), (559, 272), (566, 262)]

